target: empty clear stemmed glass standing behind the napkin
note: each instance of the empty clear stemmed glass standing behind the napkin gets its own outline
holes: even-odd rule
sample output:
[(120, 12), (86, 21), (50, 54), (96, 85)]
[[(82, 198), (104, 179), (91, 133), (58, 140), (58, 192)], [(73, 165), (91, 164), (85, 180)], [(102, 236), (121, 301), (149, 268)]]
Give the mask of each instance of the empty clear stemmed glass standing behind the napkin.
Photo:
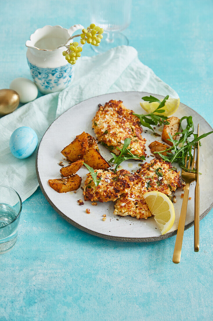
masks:
[(116, 46), (128, 45), (129, 40), (120, 31), (130, 24), (132, 0), (90, 0), (90, 21), (104, 29), (96, 52), (104, 52)]

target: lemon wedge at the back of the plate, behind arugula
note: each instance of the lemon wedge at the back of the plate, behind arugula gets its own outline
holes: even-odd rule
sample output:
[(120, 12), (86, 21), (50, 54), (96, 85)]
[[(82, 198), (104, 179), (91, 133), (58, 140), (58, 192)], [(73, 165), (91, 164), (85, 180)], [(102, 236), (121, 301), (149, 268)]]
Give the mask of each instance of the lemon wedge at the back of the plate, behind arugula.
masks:
[[(162, 99), (161, 99), (162, 101)], [(140, 102), (141, 107), (146, 110), (149, 114), (152, 113), (159, 106), (159, 102), (154, 101), (149, 103), (148, 101)], [(157, 115), (170, 116), (174, 114), (180, 105), (180, 98), (168, 98), (165, 102), (165, 106), (162, 109), (164, 113), (156, 113)]]

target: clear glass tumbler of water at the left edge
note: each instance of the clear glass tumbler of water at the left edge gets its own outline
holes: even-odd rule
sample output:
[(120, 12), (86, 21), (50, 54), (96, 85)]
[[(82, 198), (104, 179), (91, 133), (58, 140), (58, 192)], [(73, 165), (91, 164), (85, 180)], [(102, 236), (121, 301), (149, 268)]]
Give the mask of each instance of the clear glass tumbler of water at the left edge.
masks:
[(19, 194), (0, 185), (0, 254), (10, 251), (17, 241), (21, 207)]

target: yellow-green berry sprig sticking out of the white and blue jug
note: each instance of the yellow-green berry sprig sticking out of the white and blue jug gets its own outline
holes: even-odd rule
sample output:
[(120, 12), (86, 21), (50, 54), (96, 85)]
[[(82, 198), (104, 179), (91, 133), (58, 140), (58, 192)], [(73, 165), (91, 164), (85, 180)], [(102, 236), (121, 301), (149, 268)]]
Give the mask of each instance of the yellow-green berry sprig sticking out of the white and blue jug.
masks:
[[(102, 33), (104, 32), (103, 28), (96, 26), (94, 23), (91, 23), (87, 29), (82, 30), (81, 35), (75, 35), (70, 37), (67, 41), (75, 38), (81, 37), (81, 44), (84, 45), (86, 42), (90, 43), (93, 46), (98, 47), (101, 39), (103, 38)], [(76, 60), (81, 56), (80, 52), (82, 47), (78, 47), (79, 43), (77, 41), (71, 42), (69, 45), (63, 45), (67, 50), (62, 52), (62, 55), (65, 56), (67, 62), (71, 65), (75, 65)], [(61, 47), (61, 46), (60, 46)]]

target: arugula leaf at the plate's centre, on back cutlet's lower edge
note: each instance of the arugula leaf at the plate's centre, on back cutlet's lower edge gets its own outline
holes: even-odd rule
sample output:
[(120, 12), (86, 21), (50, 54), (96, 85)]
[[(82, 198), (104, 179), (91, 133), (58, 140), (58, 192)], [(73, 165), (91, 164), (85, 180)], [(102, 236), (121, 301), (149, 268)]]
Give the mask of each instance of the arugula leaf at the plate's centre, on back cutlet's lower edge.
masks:
[(115, 169), (114, 169), (114, 173), (116, 173), (116, 170), (118, 168), (118, 166), (124, 161), (124, 160), (129, 160), (129, 159), (138, 159), (138, 160), (145, 160), (144, 156), (139, 157), (138, 155), (133, 155), (130, 152), (130, 149), (128, 149), (127, 147), (129, 146), (129, 144), (131, 143), (131, 139), (130, 138), (126, 138), (124, 140), (123, 143), (123, 147), (122, 149), (120, 149), (119, 147), (116, 147), (119, 151), (120, 151), (120, 155), (116, 156), (113, 153), (110, 153), (113, 158), (111, 158), (109, 160), (110, 163), (116, 164)]

